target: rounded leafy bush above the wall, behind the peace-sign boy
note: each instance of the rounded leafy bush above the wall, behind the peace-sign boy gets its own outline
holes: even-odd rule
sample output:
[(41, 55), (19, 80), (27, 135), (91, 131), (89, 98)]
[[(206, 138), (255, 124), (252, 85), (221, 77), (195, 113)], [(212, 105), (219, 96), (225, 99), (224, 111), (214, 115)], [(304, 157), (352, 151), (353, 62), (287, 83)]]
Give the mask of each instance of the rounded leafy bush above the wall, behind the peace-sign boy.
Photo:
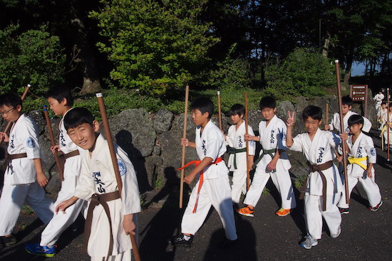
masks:
[(279, 100), (324, 95), (335, 84), (334, 65), (324, 55), (305, 48), (297, 48), (282, 63), (269, 65), (265, 78), (267, 93)]

